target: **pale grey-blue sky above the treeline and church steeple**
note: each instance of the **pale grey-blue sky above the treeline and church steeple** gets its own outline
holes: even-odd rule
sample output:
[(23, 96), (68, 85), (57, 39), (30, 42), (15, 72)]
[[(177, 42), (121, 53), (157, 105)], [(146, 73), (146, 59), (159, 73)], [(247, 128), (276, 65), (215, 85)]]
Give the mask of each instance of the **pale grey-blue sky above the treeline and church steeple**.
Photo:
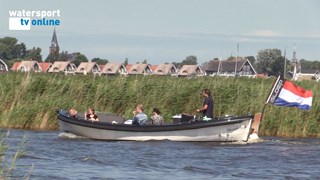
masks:
[[(113, 63), (147, 60), (198, 64), (213, 58), (257, 56), (280, 49), (292, 58), (320, 60), (319, 0), (0, 0), (0, 38), (49, 53), (54, 28), (61, 51)], [(9, 30), (9, 11), (60, 11), (58, 26)], [(31, 20), (41, 19), (31, 17)], [(239, 44), (239, 49), (237, 48)]]

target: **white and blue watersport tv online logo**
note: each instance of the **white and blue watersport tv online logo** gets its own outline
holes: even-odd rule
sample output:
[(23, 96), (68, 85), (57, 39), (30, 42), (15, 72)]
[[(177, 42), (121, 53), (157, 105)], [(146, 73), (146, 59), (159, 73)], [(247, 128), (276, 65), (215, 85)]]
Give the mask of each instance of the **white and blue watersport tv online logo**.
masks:
[[(9, 30), (30, 30), (31, 26), (60, 26), (60, 10), (9, 11)], [(48, 19), (50, 18), (50, 19)]]

